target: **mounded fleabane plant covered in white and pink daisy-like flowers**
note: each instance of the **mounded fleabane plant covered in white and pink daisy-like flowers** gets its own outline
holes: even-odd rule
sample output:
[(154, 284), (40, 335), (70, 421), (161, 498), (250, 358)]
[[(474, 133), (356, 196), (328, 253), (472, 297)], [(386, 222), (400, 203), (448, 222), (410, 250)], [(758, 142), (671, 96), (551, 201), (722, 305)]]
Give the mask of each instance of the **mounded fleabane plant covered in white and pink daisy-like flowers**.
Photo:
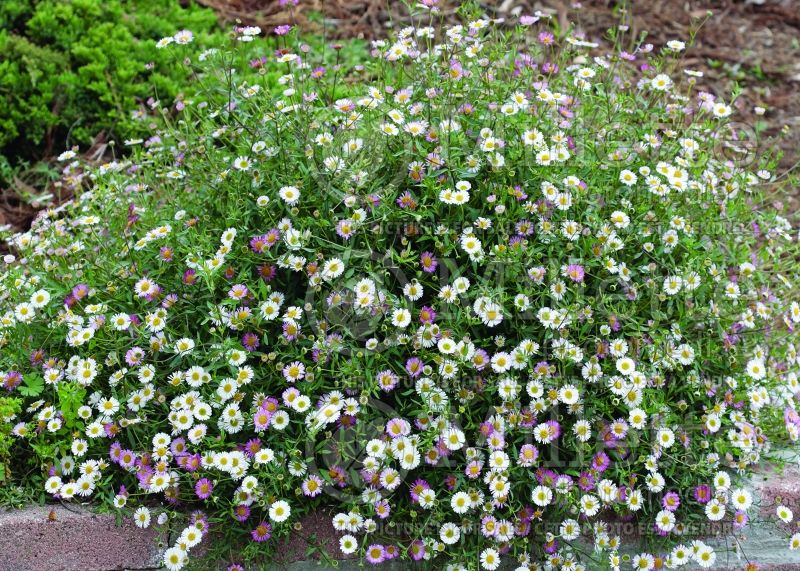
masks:
[(800, 434), (774, 159), (680, 41), (419, 22), (355, 63), (161, 42), (202, 89), (124, 161), (66, 153), (83, 191), (10, 239), (18, 448), (54, 498), (177, 529), (170, 570), (315, 510), (370, 564), (713, 566)]

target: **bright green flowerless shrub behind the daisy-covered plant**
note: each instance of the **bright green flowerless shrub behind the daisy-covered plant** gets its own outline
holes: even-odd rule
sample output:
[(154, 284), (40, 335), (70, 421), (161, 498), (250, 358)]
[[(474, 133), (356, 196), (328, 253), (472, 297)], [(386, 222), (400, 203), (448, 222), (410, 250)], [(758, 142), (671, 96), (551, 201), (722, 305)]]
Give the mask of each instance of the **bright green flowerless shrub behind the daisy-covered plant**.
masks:
[(0, 3), (0, 153), (16, 163), (100, 131), (139, 132), (132, 111), (185, 84), (185, 69), (154, 41), (183, 28), (218, 31), (212, 11), (177, 0)]

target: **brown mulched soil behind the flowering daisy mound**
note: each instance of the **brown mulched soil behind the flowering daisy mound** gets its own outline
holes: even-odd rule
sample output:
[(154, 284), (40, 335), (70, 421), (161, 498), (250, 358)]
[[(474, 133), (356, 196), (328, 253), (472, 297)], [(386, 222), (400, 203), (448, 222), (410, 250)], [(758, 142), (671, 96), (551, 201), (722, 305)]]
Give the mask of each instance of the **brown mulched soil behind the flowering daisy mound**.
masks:
[[(217, 11), (227, 22), (260, 25), (265, 30), (287, 23), (287, 8), (278, 0), (196, 0)], [(289, 0), (291, 3), (291, 0)], [(458, 2), (440, 0), (445, 14)], [(621, 5), (627, 10), (621, 10)], [(588, 39), (600, 40), (620, 23), (635, 38), (647, 31), (647, 41), (661, 46), (671, 39), (689, 40), (689, 31), (703, 22), (686, 54), (686, 65), (702, 71), (701, 89), (729, 94), (738, 83), (738, 120), (766, 124), (759, 148), (775, 144), (782, 151), (782, 173), (800, 161), (800, 0), (497, 0), (481, 3), (487, 14), (513, 17), (536, 10), (552, 13), (562, 26), (575, 22)], [(332, 37), (385, 36), (393, 24), (402, 24), (405, 8), (396, 0), (301, 0), (292, 8), (300, 26), (318, 32), (324, 25)], [(708, 15), (708, 12), (711, 15)], [(311, 16), (324, 15), (324, 23)], [(311, 17), (310, 17), (311, 16)], [(756, 106), (766, 108), (763, 116)], [(22, 182), (20, 184), (23, 184)], [(29, 227), (39, 205), (31, 205), (17, 189), (0, 189), (0, 226)], [(49, 189), (48, 189), (49, 190)], [(67, 195), (68, 196), (68, 195)], [(798, 210), (800, 190), (786, 197), (791, 211)]]

